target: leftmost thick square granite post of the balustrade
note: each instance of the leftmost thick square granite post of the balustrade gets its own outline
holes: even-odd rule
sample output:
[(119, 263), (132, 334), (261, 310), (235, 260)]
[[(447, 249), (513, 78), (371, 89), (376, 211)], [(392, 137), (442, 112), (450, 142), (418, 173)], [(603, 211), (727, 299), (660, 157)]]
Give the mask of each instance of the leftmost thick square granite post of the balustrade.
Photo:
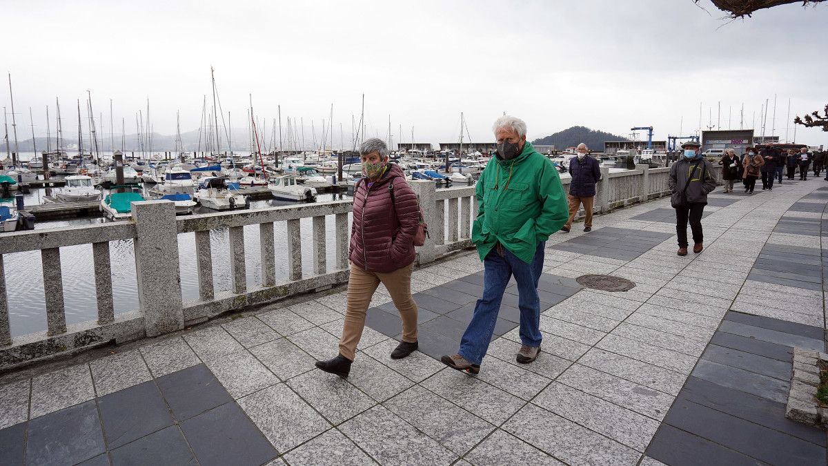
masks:
[(176, 205), (171, 201), (132, 202), (138, 306), (147, 337), (184, 328)]

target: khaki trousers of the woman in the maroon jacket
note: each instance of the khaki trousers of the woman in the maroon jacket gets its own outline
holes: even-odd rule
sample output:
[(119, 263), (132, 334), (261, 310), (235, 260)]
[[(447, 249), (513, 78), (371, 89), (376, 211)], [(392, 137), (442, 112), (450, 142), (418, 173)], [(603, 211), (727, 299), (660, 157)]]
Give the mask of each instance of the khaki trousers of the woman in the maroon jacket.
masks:
[[(365, 313), (371, 303), (373, 292), (380, 283), (388, 289), (397, 311), (402, 318), (402, 341), (413, 343), (417, 337), (417, 308), (412, 298), (412, 269), (414, 264), (402, 269), (381, 274), (366, 272), (351, 264), (350, 278), (348, 279), (348, 300), (345, 309), (345, 323), (342, 328), (342, 337), (339, 339), (339, 354), (354, 361), (359, 339), (362, 338), (365, 328)], [(384, 312), (384, 311), (383, 311)]]

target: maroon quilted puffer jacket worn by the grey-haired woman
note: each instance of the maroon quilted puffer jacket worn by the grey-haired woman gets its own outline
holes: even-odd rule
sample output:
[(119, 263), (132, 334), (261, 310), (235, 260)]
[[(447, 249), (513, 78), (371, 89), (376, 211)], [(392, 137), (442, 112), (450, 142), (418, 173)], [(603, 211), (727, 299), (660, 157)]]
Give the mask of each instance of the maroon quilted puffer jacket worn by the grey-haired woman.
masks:
[[(393, 181), (394, 202), (391, 186)], [(388, 273), (414, 262), (414, 235), (420, 224), (416, 195), (402, 168), (388, 170), (371, 187), (363, 179), (354, 192), (349, 257), (369, 272)]]

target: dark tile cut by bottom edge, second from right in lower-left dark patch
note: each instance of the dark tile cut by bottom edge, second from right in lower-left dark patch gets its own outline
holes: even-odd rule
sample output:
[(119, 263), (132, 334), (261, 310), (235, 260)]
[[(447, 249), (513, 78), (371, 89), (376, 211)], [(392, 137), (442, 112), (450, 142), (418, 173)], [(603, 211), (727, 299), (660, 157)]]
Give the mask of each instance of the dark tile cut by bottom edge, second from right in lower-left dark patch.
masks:
[(110, 454), (113, 466), (198, 464), (177, 425), (171, 425), (131, 444), (113, 449)]

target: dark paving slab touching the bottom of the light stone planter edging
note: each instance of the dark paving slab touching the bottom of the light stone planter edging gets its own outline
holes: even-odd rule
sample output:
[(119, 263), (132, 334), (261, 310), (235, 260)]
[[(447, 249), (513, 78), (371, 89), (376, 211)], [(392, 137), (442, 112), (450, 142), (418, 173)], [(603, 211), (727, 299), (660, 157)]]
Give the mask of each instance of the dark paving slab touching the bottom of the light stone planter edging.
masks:
[(783, 403), (692, 376), (687, 378), (678, 397), (740, 419), (749, 420), (769, 429), (793, 435), (812, 444), (826, 446), (825, 431), (785, 418), (785, 404)]

